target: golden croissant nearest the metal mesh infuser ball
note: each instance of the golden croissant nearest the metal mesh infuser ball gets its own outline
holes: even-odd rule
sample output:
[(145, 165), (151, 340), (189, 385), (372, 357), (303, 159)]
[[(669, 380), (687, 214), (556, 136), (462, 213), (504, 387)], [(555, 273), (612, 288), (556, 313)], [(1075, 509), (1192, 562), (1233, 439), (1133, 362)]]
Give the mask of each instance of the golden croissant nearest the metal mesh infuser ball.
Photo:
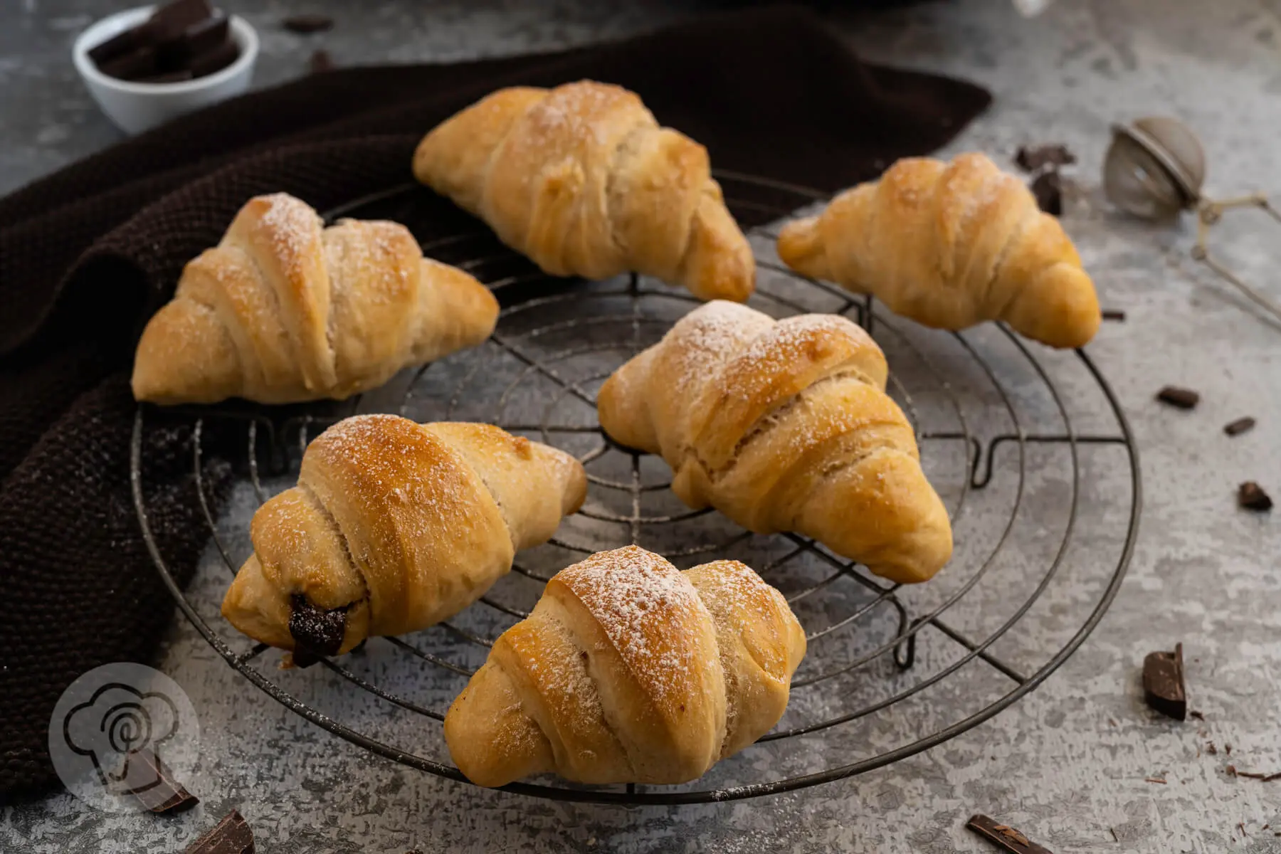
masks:
[(785, 225), (778, 250), (792, 269), (927, 326), (1004, 320), (1050, 347), (1082, 347), (1102, 320), (1058, 220), (981, 154), (899, 160)]

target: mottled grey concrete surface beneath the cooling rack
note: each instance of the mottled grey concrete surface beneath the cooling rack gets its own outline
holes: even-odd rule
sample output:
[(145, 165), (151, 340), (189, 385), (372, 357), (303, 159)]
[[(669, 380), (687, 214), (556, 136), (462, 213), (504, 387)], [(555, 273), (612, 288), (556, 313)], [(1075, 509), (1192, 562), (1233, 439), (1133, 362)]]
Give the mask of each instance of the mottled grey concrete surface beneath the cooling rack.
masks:
[[(33, 3), (29, 12), (5, 12), (27, 28), (28, 38), (5, 45), (4, 74), (32, 81), (32, 92), (0, 87), (4, 128), (0, 186), (17, 186), (110, 140), (104, 120), (64, 64), (74, 15), (92, 17), (108, 4)], [(500, 18), (497, 6), (433, 6), (412, 13), (410, 4), (378, 6), (368, 26), (343, 4), (332, 6), (339, 28), (314, 38), (339, 60), (430, 59), (551, 47), (617, 35), (674, 18), (673, 5), (624, 4), (614, 18), (591, 4), (562, 4), (555, 23), (524, 5)], [(264, 26), (279, 9), (254, 18)], [(414, 6), (416, 9), (416, 6)], [(963, 830), (972, 812), (986, 812), (1022, 828), (1058, 851), (1252, 853), (1281, 851), (1281, 782), (1264, 784), (1226, 773), (1281, 769), (1281, 551), (1276, 511), (1252, 515), (1234, 504), (1239, 481), (1259, 480), (1281, 497), (1281, 329), (1252, 314), (1227, 286), (1186, 259), (1190, 223), (1158, 228), (1111, 213), (1097, 192), (1097, 174), (1108, 124), (1148, 113), (1182, 117), (1200, 133), (1209, 154), (1208, 189), (1231, 195), (1281, 188), (1281, 164), (1272, 155), (1281, 91), (1276, 37), (1281, 9), (1246, 0), (1208, 4), (1195, 0), (1059, 0), (1036, 20), (1018, 18), (1003, 3), (963, 0), (892, 13), (836, 13), (835, 26), (869, 58), (931, 68), (977, 79), (994, 91), (995, 106), (951, 147), (980, 149), (1007, 161), (1021, 142), (1059, 141), (1080, 156), (1075, 170), (1084, 187), (1065, 215), (1102, 302), (1122, 309), (1123, 324), (1106, 324), (1089, 352), (1112, 383), (1129, 416), (1141, 455), (1144, 513), (1138, 545), (1120, 595), (1097, 631), (1040, 688), (991, 721), (938, 748), (889, 767), (820, 787), (748, 802), (680, 808), (615, 808), (560, 804), (484, 793), (442, 781), (373, 757), (315, 726), (254, 689), (227, 667), (184, 621), (175, 625), (163, 668), (191, 694), (201, 716), (205, 763), (191, 781), (204, 800), (173, 819), (108, 817), (86, 812), (69, 798), (10, 809), (0, 823), (5, 851), (181, 850), (232, 807), (252, 823), (260, 850), (286, 854), (434, 850), (583, 851), (984, 851), (991, 850)], [(60, 29), (59, 29), (60, 27)], [(10, 38), (13, 27), (0, 28)], [(38, 32), (37, 37), (35, 33)], [(295, 73), (311, 50), (293, 36), (266, 41), (264, 81)], [(13, 45), (13, 46), (10, 46)], [(839, 109), (839, 105), (834, 105)], [(44, 136), (42, 136), (44, 134)], [(1276, 298), (1276, 232), (1254, 214), (1230, 218), (1216, 247), (1236, 269)], [(1272, 227), (1275, 229), (1275, 225)], [(757, 248), (767, 256), (767, 241)], [(812, 310), (833, 303), (812, 289), (767, 275), (762, 292), (790, 294)], [(602, 301), (601, 305), (608, 305)], [(779, 310), (769, 297), (757, 305)], [(626, 309), (626, 303), (621, 303)], [(642, 303), (646, 334), (657, 334), (673, 314), (670, 301)], [(537, 316), (505, 321), (505, 333), (530, 351), (551, 351), (530, 329)], [(970, 429), (981, 439), (1012, 425), (993, 383), (972, 356), (935, 333), (898, 324), (877, 330), (918, 428), (956, 430), (959, 421), (940, 376), (949, 383)], [(616, 328), (615, 334), (616, 334)], [(585, 333), (584, 333), (585, 334)], [(607, 341), (611, 326), (597, 333)], [(1029, 433), (1054, 433), (1063, 420), (1026, 357), (991, 329), (966, 341), (993, 369)], [(913, 350), (913, 347), (916, 350)], [(922, 355), (924, 353), (924, 355)], [(1117, 424), (1095, 384), (1071, 355), (1034, 350), (1056, 388), (1063, 392), (1080, 434), (1116, 435)], [(410, 414), (446, 415), (439, 392), (460, 382), (470, 360), (484, 356), (491, 369), (484, 388), (518, 376), (492, 350), (433, 367), (416, 388)], [(584, 384), (608, 370), (624, 351), (602, 353), (591, 365), (557, 364), (564, 376)], [(926, 361), (938, 366), (933, 373)], [(1167, 383), (1196, 388), (1202, 405), (1173, 411), (1153, 401)], [(473, 388), (459, 417), (512, 423), (556, 394), (537, 378), (520, 385), (507, 410)], [(436, 392), (433, 394), (433, 392)], [(901, 399), (906, 399), (903, 393)], [(1221, 428), (1254, 415), (1258, 426), (1235, 439)], [(559, 424), (583, 423), (589, 411), (557, 402)], [(565, 447), (571, 438), (559, 435)], [(922, 440), (922, 456), (940, 493), (956, 506), (962, 497), (965, 460), (957, 442)], [(579, 451), (588, 449), (578, 447)], [(619, 455), (593, 463), (607, 476)], [(1063, 540), (1073, 494), (1075, 530), (1063, 563), (1015, 630), (991, 652), (1021, 673), (1034, 673), (1085, 621), (1114, 570), (1125, 539), (1131, 501), (1123, 451), (1082, 446), (1079, 480), (1063, 446), (1030, 446), (1022, 470), (1024, 492), (1011, 534), (988, 572), (945, 615), (970, 638), (984, 638), (1016, 611), (1044, 577)], [(913, 615), (925, 613), (970, 581), (1011, 519), (1020, 483), (1018, 455), (1006, 447), (985, 489), (971, 489), (956, 519), (957, 558), (934, 583), (903, 593)], [(661, 465), (646, 469), (661, 480)], [(284, 479), (268, 484), (286, 485)], [(647, 512), (675, 510), (664, 493), (649, 493)], [(219, 522), (233, 561), (249, 551), (243, 529), (255, 506), (252, 490), (238, 489)], [(593, 488), (589, 508), (617, 511), (617, 495)], [(694, 525), (692, 522), (690, 525)], [(642, 543), (666, 538), (698, 542), (716, 528), (703, 519), (681, 531), (643, 526)], [(617, 529), (582, 517), (566, 524), (565, 540), (588, 548), (616, 544)], [(776, 542), (757, 538), (731, 552), (757, 566), (779, 553)], [(534, 572), (562, 566), (569, 552), (546, 547), (523, 556)], [(796, 561), (770, 574), (785, 592), (799, 592), (821, 565)], [(247, 648), (216, 618), (227, 570), (210, 549), (191, 598), (237, 649)], [(528, 606), (537, 584), (512, 575), (493, 597)], [(840, 620), (866, 602), (857, 585), (833, 585), (802, 599), (798, 615), (810, 631)], [(489, 632), (505, 622), (475, 608), (460, 625)], [(889, 608), (876, 608), (856, 631), (815, 641), (802, 675), (851, 661), (893, 632)], [(1182, 640), (1189, 665), (1191, 705), (1203, 722), (1175, 723), (1145, 709), (1139, 686), (1143, 656)], [(475, 666), (480, 650), (442, 630), (414, 641)], [(907, 689), (958, 659), (965, 650), (934, 629), (920, 638), (918, 661), (895, 673), (884, 661), (812, 688), (798, 688), (784, 718), (797, 726)], [(445, 759), (439, 725), (379, 703), (320, 668), (279, 672), (274, 653), (261, 672), (333, 717), (420, 755)], [(389, 690), (432, 708), (443, 708), (460, 682), (414, 667), (386, 643), (371, 643), (347, 666)], [(820, 734), (758, 745), (710, 776), (716, 786), (794, 776), (865, 759), (910, 744), (981, 709), (1013, 688), (988, 665), (971, 662), (931, 689), (889, 709)], [(1216, 752), (1209, 752), (1213, 743)], [(1227, 745), (1232, 752), (1227, 754)], [(1164, 784), (1149, 782), (1150, 778)]]

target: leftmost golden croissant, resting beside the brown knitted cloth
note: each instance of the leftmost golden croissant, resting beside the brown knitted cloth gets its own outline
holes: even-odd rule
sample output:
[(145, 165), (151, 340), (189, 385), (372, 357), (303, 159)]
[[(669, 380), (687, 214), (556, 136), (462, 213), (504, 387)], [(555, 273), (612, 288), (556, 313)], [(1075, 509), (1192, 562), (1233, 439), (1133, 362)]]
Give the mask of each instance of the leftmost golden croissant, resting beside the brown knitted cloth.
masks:
[(156, 403), (343, 398), (483, 342), (498, 302), (424, 259), (404, 225), (320, 216), (292, 196), (251, 198), (187, 264), (147, 323), (133, 397)]

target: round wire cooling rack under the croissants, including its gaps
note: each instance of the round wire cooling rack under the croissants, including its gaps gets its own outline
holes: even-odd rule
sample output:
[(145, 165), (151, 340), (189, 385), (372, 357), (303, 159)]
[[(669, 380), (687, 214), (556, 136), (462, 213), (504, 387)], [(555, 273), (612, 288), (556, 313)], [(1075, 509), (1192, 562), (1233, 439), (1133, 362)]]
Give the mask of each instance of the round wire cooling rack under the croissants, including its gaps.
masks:
[[(824, 197), (749, 175), (717, 178), (740, 223), (776, 223)], [(927, 584), (888, 584), (806, 538), (755, 535), (712, 511), (685, 508), (670, 494), (670, 471), (660, 460), (603, 435), (594, 389), (696, 307), (693, 297), (637, 275), (605, 283), (553, 279), (474, 220), (460, 220), (443, 237), (433, 233), (439, 219), (423, 225), (424, 210), (438, 204), (421, 188), (396, 187), (327, 218), (402, 222), (424, 252), (489, 284), (502, 305), (489, 342), (407, 371), (338, 414), (332, 406), (288, 416), (266, 407), (179, 411), (193, 424), (195, 488), (218, 553), (214, 571), (223, 574), (216, 583), (184, 592), (151, 535), (149, 501), (164, 497), (149, 499), (141, 455), (156, 414), (146, 405), (137, 410), (135, 508), (161, 579), (209, 644), (297, 714), (387, 759), (466, 782), (446, 761), (443, 712), (493, 638), (528, 615), (556, 570), (628, 543), (678, 566), (735, 557), (779, 586), (806, 627), (810, 649), (775, 730), (684, 786), (550, 780), (505, 789), (615, 804), (740, 799), (879, 768), (977, 726), (1043, 682), (1103, 617), (1130, 561), (1141, 490), (1130, 425), (1084, 351), (1034, 350), (1003, 325), (943, 333), (886, 318), (871, 300), (787, 270), (772, 256), (770, 225), (749, 232), (758, 264), (752, 305), (774, 316), (845, 314), (872, 332), (889, 357), (892, 396), (949, 504), (957, 542), (952, 563)], [(206, 495), (205, 425), (228, 419), (245, 425), (247, 488), (261, 503), (292, 485), (309, 437), (359, 411), (489, 421), (562, 447), (587, 467), (588, 501), (551, 543), (519, 554), (514, 571), (453, 620), (412, 636), (370, 639), (347, 657), (322, 659), (322, 668), (282, 671), (266, 645), (252, 645), (216, 617), (213, 597), (250, 547), (243, 535), (228, 535), (227, 520), (215, 519)], [(1079, 426), (1082, 421), (1088, 428)], [(243, 531), (246, 522), (229, 524)], [(345, 721), (320, 708), (327, 697), (341, 698), (337, 705), (347, 712), (356, 703), (396, 717), (374, 723), (355, 713), (348, 717), (359, 720)], [(424, 741), (439, 758), (421, 755)]]

